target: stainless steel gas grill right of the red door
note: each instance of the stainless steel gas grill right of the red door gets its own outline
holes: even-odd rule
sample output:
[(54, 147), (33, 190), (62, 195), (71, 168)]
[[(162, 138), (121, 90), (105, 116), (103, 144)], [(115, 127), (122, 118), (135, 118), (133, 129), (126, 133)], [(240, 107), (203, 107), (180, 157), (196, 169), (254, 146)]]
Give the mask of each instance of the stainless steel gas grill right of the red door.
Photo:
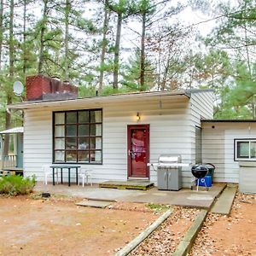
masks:
[(182, 166), (181, 155), (160, 154), (157, 163), (148, 163), (157, 172), (157, 187), (163, 190), (179, 190), (182, 188)]

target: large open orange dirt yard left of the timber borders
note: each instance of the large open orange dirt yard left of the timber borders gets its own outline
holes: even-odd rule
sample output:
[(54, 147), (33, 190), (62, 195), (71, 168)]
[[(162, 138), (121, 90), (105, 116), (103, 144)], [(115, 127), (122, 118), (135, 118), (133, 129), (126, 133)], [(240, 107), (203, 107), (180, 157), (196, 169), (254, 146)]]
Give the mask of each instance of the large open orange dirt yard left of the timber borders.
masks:
[(160, 213), (141, 204), (99, 209), (18, 196), (0, 197), (0, 216), (0, 255), (113, 255)]

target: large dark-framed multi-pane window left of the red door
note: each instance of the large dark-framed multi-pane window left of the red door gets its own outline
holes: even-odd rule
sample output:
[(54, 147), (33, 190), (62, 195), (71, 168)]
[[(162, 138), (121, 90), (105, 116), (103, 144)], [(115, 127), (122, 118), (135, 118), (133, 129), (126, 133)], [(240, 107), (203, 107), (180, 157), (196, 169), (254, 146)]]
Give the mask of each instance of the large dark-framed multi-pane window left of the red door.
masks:
[(102, 164), (102, 109), (54, 113), (54, 162)]

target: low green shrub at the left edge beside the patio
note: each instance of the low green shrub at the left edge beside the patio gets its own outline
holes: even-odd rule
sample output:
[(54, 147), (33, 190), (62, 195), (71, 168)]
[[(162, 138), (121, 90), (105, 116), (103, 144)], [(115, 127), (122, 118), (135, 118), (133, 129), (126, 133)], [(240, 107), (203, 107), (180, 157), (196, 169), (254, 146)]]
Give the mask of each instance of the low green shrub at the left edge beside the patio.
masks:
[(32, 192), (36, 185), (36, 178), (10, 176), (0, 178), (0, 194), (26, 195)]

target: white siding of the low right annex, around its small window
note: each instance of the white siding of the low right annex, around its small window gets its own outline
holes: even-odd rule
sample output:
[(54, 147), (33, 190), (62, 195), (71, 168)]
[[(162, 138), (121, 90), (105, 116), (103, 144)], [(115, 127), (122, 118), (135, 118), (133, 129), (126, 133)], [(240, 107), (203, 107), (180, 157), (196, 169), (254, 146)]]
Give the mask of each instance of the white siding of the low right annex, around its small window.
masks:
[[(214, 128), (213, 128), (214, 127)], [(215, 182), (239, 182), (239, 165), (234, 160), (234, 139), (255, 138), (255, 123), (203, 123), (203, 161), (216, 166)]]

